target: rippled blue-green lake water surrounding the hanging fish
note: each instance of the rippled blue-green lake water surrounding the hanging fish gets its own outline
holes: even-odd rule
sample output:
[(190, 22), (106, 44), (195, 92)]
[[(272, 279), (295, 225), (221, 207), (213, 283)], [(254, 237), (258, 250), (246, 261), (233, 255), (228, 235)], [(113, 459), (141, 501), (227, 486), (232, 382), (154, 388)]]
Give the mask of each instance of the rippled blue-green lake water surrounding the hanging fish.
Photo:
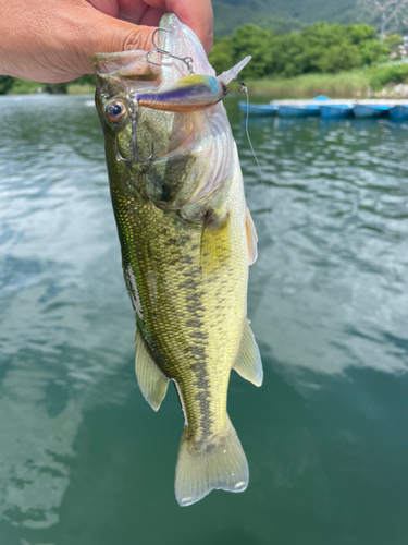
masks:
[(407, 124), (250, 120), (225, 100), (259, 235), (233, 373), (244, 494), (180, 508), (183, 416), (134, 376), (92, 97), (0, 100), (0, 544), (408, 543)]

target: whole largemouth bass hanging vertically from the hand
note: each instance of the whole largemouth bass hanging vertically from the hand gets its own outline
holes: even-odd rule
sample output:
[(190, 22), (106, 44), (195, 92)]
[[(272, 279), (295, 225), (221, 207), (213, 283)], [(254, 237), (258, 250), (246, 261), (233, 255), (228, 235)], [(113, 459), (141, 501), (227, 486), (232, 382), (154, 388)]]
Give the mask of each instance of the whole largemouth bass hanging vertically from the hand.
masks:
[[(256, 386), (263, 379), (247, 318), (258, 238), (222, 105), (227, 77), (214, 84), (201, 44), (176, 15), (164, 15), (160, 28), (168, 31), (160, 33), (161, 48), (172, 57), (153, 53), (151, 62), (146, 51), (125, 51), (91, 61), (136, 318), (136, 377), (154, 411), (169, 383), (175, 386), (184, 414), (175, 497), (184, 507), (212, 489), (238, 493), (248, 485), (227, 389), (232, 368)], [(174, 56), (188, 56), (195, 74)], [(198, 98), (190, 93), (197, 82), (205, 87)], [(195, 107), (176, 106), (180, 88)]]

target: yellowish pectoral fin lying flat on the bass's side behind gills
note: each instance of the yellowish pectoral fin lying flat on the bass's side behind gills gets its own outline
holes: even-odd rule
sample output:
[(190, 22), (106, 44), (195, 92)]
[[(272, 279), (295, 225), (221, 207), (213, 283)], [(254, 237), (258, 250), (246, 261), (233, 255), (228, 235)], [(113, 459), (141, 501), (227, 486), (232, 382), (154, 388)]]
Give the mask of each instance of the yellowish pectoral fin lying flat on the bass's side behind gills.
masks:
[(230, 255), (230, 215), (217, 217), (208, 213), (201, 234), (200, 265), (203, 274), (218, 268)]

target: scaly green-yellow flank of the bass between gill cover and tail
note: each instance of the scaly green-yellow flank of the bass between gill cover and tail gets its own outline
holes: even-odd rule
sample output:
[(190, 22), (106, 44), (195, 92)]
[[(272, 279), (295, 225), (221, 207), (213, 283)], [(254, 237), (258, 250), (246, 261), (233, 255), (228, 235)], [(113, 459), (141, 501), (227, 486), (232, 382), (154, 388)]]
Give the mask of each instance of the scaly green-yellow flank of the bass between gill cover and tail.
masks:
[[(230, 192), (234, 191), (232, 185)], [(131, 266), (137, 278), (144, 302), (141, 328), (163, 373), (177, 382), (188, 434), (199, 446), (225, 427), (230, 371), (246, 316), (247, 250), (244, 226), (237, 225), (244, 218), (244, 202), (235, 210), (231, 199), (228, 221), (236, 234), (222, 255), (222, 266), (203, 275), (202, 225), (162, 210), (132, 191), (118, 193), (113, 189), (125, 249), (123, 268)]]

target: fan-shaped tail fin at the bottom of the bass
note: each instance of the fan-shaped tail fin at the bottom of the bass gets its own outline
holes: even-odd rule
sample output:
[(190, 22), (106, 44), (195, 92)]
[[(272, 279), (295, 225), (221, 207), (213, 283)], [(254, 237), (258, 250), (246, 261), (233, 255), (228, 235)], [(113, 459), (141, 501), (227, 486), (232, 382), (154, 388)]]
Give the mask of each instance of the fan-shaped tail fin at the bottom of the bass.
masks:
[(249, 470), (238, 436), (227, 419), (223, 433), (197, 446), (185, 428), (175, 471), (175, 496), (182, 507), (202, 499), (212, 489), (244, 492)]

